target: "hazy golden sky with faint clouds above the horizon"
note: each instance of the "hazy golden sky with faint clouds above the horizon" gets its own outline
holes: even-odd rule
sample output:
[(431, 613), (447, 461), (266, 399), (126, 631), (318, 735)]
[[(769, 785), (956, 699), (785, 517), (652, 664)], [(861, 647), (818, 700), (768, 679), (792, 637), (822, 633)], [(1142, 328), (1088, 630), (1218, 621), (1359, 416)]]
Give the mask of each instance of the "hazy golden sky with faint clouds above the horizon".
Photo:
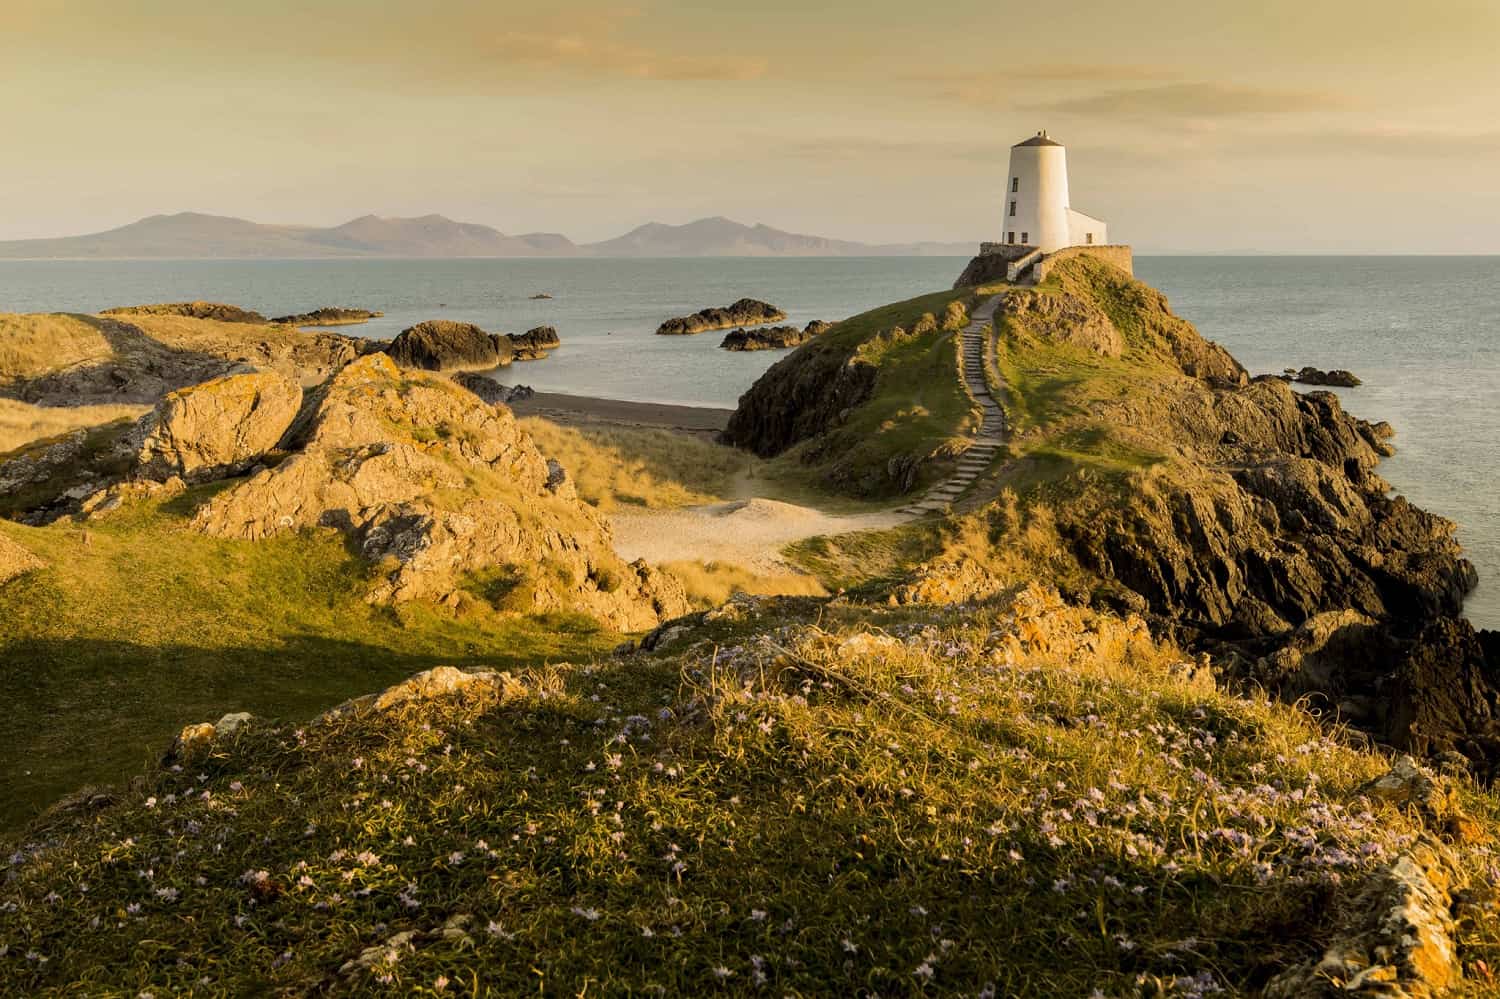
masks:
[(0, 0), (0, 238), (207, 212), (1500, 254), (1496, 0)]

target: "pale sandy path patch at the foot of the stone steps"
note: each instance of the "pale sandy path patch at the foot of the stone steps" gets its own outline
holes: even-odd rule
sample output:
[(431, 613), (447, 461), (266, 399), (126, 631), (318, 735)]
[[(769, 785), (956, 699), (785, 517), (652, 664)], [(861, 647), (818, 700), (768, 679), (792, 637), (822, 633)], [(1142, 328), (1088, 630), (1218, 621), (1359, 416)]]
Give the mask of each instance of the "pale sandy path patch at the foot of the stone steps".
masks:
[(615, 513), (615, 550), (648, 562), (730, 562), (756, 573), (801, 572), (782, 558), (792, 542), (894, 526), (909, 518), (891, 512), (832, 516), (776, 500), (736, 500), (682, 510)]

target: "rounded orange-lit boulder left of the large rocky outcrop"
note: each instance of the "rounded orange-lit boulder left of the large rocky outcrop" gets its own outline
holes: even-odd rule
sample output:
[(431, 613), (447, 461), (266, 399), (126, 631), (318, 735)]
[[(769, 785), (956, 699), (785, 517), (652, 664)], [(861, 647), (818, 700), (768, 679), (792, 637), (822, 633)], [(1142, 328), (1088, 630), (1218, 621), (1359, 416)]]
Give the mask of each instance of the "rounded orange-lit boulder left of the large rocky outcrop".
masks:
[(302, 388), (266, 370), (178, 388), (141, 420), (140, 472), (189, 482), (238, 474), (276, 447), (298, 406)]

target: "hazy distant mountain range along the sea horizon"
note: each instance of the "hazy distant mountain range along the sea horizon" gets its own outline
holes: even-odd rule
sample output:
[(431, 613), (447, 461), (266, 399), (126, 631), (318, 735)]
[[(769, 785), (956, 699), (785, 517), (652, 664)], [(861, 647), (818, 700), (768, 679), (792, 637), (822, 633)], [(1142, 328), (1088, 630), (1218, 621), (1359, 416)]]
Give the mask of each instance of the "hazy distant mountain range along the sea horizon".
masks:
[(153, 214), (108, 232), (0, 242), (6, 260), (312, 258), (312, 256), (969, 256), (972, 243), (852, 243), (712, 218), (687, 225), (650, 222), (603, 243), (558, 232), (507, 236), (441, 214), (336, 225), (261, 225), (182, 212)]

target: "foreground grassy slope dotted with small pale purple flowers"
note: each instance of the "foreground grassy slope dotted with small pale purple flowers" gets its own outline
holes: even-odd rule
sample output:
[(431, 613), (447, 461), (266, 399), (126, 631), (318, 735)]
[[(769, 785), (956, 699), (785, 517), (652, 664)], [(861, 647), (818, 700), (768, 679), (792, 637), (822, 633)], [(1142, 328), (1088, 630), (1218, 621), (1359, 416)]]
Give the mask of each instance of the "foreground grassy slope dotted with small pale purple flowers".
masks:
[[(780, 609), (507, 700), (252, 728), (22, 850), (0, 982), (1186, 996), (1316, 954), (1419, 832), (1353, 794), (1386, 762), (1046, 604)], [(1462, 946), (1500, 960), (1494, 926)]]

